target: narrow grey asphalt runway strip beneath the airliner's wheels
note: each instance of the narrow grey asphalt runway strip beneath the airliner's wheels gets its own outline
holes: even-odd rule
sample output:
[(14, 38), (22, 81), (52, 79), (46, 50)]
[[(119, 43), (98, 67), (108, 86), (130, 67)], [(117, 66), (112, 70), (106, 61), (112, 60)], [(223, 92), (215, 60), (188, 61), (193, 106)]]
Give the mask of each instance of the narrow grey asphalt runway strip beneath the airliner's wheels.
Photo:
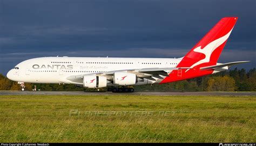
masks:
[(0, 91), (0, 95), (145, 95), (145, 96), (256, 96), (256, 92), (83, 92), (83, 91)]

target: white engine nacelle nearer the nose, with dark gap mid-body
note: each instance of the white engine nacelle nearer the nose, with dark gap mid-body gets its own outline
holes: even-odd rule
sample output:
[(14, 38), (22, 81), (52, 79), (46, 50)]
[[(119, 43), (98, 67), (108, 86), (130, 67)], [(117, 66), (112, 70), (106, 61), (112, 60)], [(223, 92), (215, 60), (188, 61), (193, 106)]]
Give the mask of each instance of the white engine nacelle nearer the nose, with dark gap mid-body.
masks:
[(103, 76), (84, 76), (83, 85), (88, 88), (106, 87), (107, 79)]

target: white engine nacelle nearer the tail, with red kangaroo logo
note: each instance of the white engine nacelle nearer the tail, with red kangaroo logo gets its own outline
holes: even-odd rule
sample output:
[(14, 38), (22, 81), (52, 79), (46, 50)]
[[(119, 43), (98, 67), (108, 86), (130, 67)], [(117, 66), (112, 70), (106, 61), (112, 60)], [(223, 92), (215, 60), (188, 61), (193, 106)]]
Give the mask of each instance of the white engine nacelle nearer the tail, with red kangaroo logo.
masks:
[(127, 72), (114, 72), (115, 85), (134, 85), (136, 83), (136, 75)]

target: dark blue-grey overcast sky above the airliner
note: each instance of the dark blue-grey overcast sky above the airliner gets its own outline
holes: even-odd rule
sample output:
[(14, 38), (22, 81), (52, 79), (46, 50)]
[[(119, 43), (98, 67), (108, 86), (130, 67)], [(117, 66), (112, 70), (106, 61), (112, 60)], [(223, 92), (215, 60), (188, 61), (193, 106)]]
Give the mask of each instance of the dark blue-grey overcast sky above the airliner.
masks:
[(43, 56), (182, 57), (239, 17), (219, 62), (254, 68), (256, 1), (0, 0), (0, 73)]

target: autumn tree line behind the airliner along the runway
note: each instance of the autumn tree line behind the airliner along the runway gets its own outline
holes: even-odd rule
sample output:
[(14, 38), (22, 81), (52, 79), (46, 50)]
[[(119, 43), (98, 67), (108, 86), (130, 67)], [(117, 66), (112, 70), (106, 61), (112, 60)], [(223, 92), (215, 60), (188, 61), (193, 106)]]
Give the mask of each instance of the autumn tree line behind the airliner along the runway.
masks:
[[(34, 84), (25, 83), (26, 90), (32, 91), (37, 86), (41, 91), (96, 91), (96, 89), (84, 89), (72, 84)], [(255, 68), (234, 68), (204, 77), (187, 79), (184, 81), (160, 84), (134, 86), (136, 91), (256, 91)], [(10, 81), (0, 74), (0, 90), (21, 90), (17, 82)], [(105, 91), (105, 88), (100, 91)]]

